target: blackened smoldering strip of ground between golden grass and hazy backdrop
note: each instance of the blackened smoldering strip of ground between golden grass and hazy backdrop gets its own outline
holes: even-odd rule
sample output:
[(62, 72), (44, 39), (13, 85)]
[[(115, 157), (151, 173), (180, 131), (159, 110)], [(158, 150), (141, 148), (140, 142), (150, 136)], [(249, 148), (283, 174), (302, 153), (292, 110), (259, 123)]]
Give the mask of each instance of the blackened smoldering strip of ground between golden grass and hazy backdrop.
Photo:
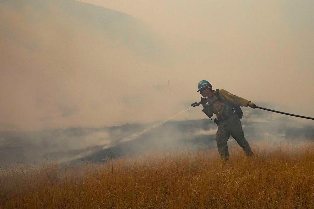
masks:
[[(314, 126), (297, 122), (288, 116), (245, 109), (241, 119), (246, 139), (249, 143), (267, 144), (291, 143), (314, 140)], [(192, 109), (194, 111), (200, 111)], [(77, 164), (82, 162), (102, 162), (110, 158), (137, 156), (144, 152), (216, 149), (215, 123), (210, 119), (168, 121), (130, 141), (123, 138), (139, 133), (155, 123), (123, 124), (111, 127), (67, 128), (31, 132), (1, 132), (1, 165), (33, 164), (45, 160)], [(237, 146), (230, 137), (229, 146)]]

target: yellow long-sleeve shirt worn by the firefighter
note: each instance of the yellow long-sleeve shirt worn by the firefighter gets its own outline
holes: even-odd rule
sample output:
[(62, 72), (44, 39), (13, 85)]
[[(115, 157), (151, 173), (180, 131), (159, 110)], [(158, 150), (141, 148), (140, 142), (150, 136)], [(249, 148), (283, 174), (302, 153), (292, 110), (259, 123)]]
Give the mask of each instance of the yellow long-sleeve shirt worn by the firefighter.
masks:
[[(245, 106), (245, 107), (247, 107), (248, 103), (251, 102), (251, 101), (244, 99), (242, 97), (238, 97), (236, 95), (233, 95), (224, 89), (219, 89), (219, 96), (223, 101), (229, 103), (229, 105), (225, 104), (224, 102), (220, 102), (219, 100), (217, 100), (216, 90), (214, 90), (213, 100), (211, 100), (210, 98), (207, 98), (207, 104), (205, 105), (205, 107), (202, 110), (209, 118), (213, 117), (214, 113), (215, 113), (216, 117), (218, 118), (221, 115), (228, 112), (230, 109), (230, 106), (231, 106), (230, 102), (234, 103), (236, 105)], [(211, 103), (215, 100), (217, 100), (217, 101), (214, 103)]]

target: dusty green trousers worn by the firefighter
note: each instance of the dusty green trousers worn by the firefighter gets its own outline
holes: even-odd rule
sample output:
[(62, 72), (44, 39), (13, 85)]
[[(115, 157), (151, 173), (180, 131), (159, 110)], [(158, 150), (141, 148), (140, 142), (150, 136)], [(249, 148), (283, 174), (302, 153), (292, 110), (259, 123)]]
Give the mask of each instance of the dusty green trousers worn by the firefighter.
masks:
[(242, 147), (247, 156), (253, 156), (251, 147), (244, 137), (241, 121), (235, 114), (230, 116), (230, 118), (225, 122), (219, 123), (216, 142), (221, 159), (226, 160), (230, 157), (227, 144), (230, 135), (236, 139), (236, 142)]

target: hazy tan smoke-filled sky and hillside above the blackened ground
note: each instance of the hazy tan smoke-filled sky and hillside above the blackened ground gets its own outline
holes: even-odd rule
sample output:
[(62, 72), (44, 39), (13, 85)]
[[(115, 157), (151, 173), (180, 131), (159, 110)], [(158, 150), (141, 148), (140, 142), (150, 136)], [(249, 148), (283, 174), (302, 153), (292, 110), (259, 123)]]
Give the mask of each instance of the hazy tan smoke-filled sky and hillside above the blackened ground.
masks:
[(313, 1), (84, 2), (0, 2), (0, 130), (165, 120), (203, 79), (314, 117)]

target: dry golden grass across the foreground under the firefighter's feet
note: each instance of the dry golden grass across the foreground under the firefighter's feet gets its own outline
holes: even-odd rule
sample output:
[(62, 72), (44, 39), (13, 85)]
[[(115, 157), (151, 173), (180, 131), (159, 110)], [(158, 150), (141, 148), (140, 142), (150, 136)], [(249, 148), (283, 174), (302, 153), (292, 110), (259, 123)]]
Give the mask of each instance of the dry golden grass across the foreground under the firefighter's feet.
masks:
[[(148, 153), (84, 168), (10, 167), (3, 208), (314, 208), (314, 144)], [(1, 171), (0, 171), (1, 172)], [(111, 182), (112, 180), (112, 182)]]

